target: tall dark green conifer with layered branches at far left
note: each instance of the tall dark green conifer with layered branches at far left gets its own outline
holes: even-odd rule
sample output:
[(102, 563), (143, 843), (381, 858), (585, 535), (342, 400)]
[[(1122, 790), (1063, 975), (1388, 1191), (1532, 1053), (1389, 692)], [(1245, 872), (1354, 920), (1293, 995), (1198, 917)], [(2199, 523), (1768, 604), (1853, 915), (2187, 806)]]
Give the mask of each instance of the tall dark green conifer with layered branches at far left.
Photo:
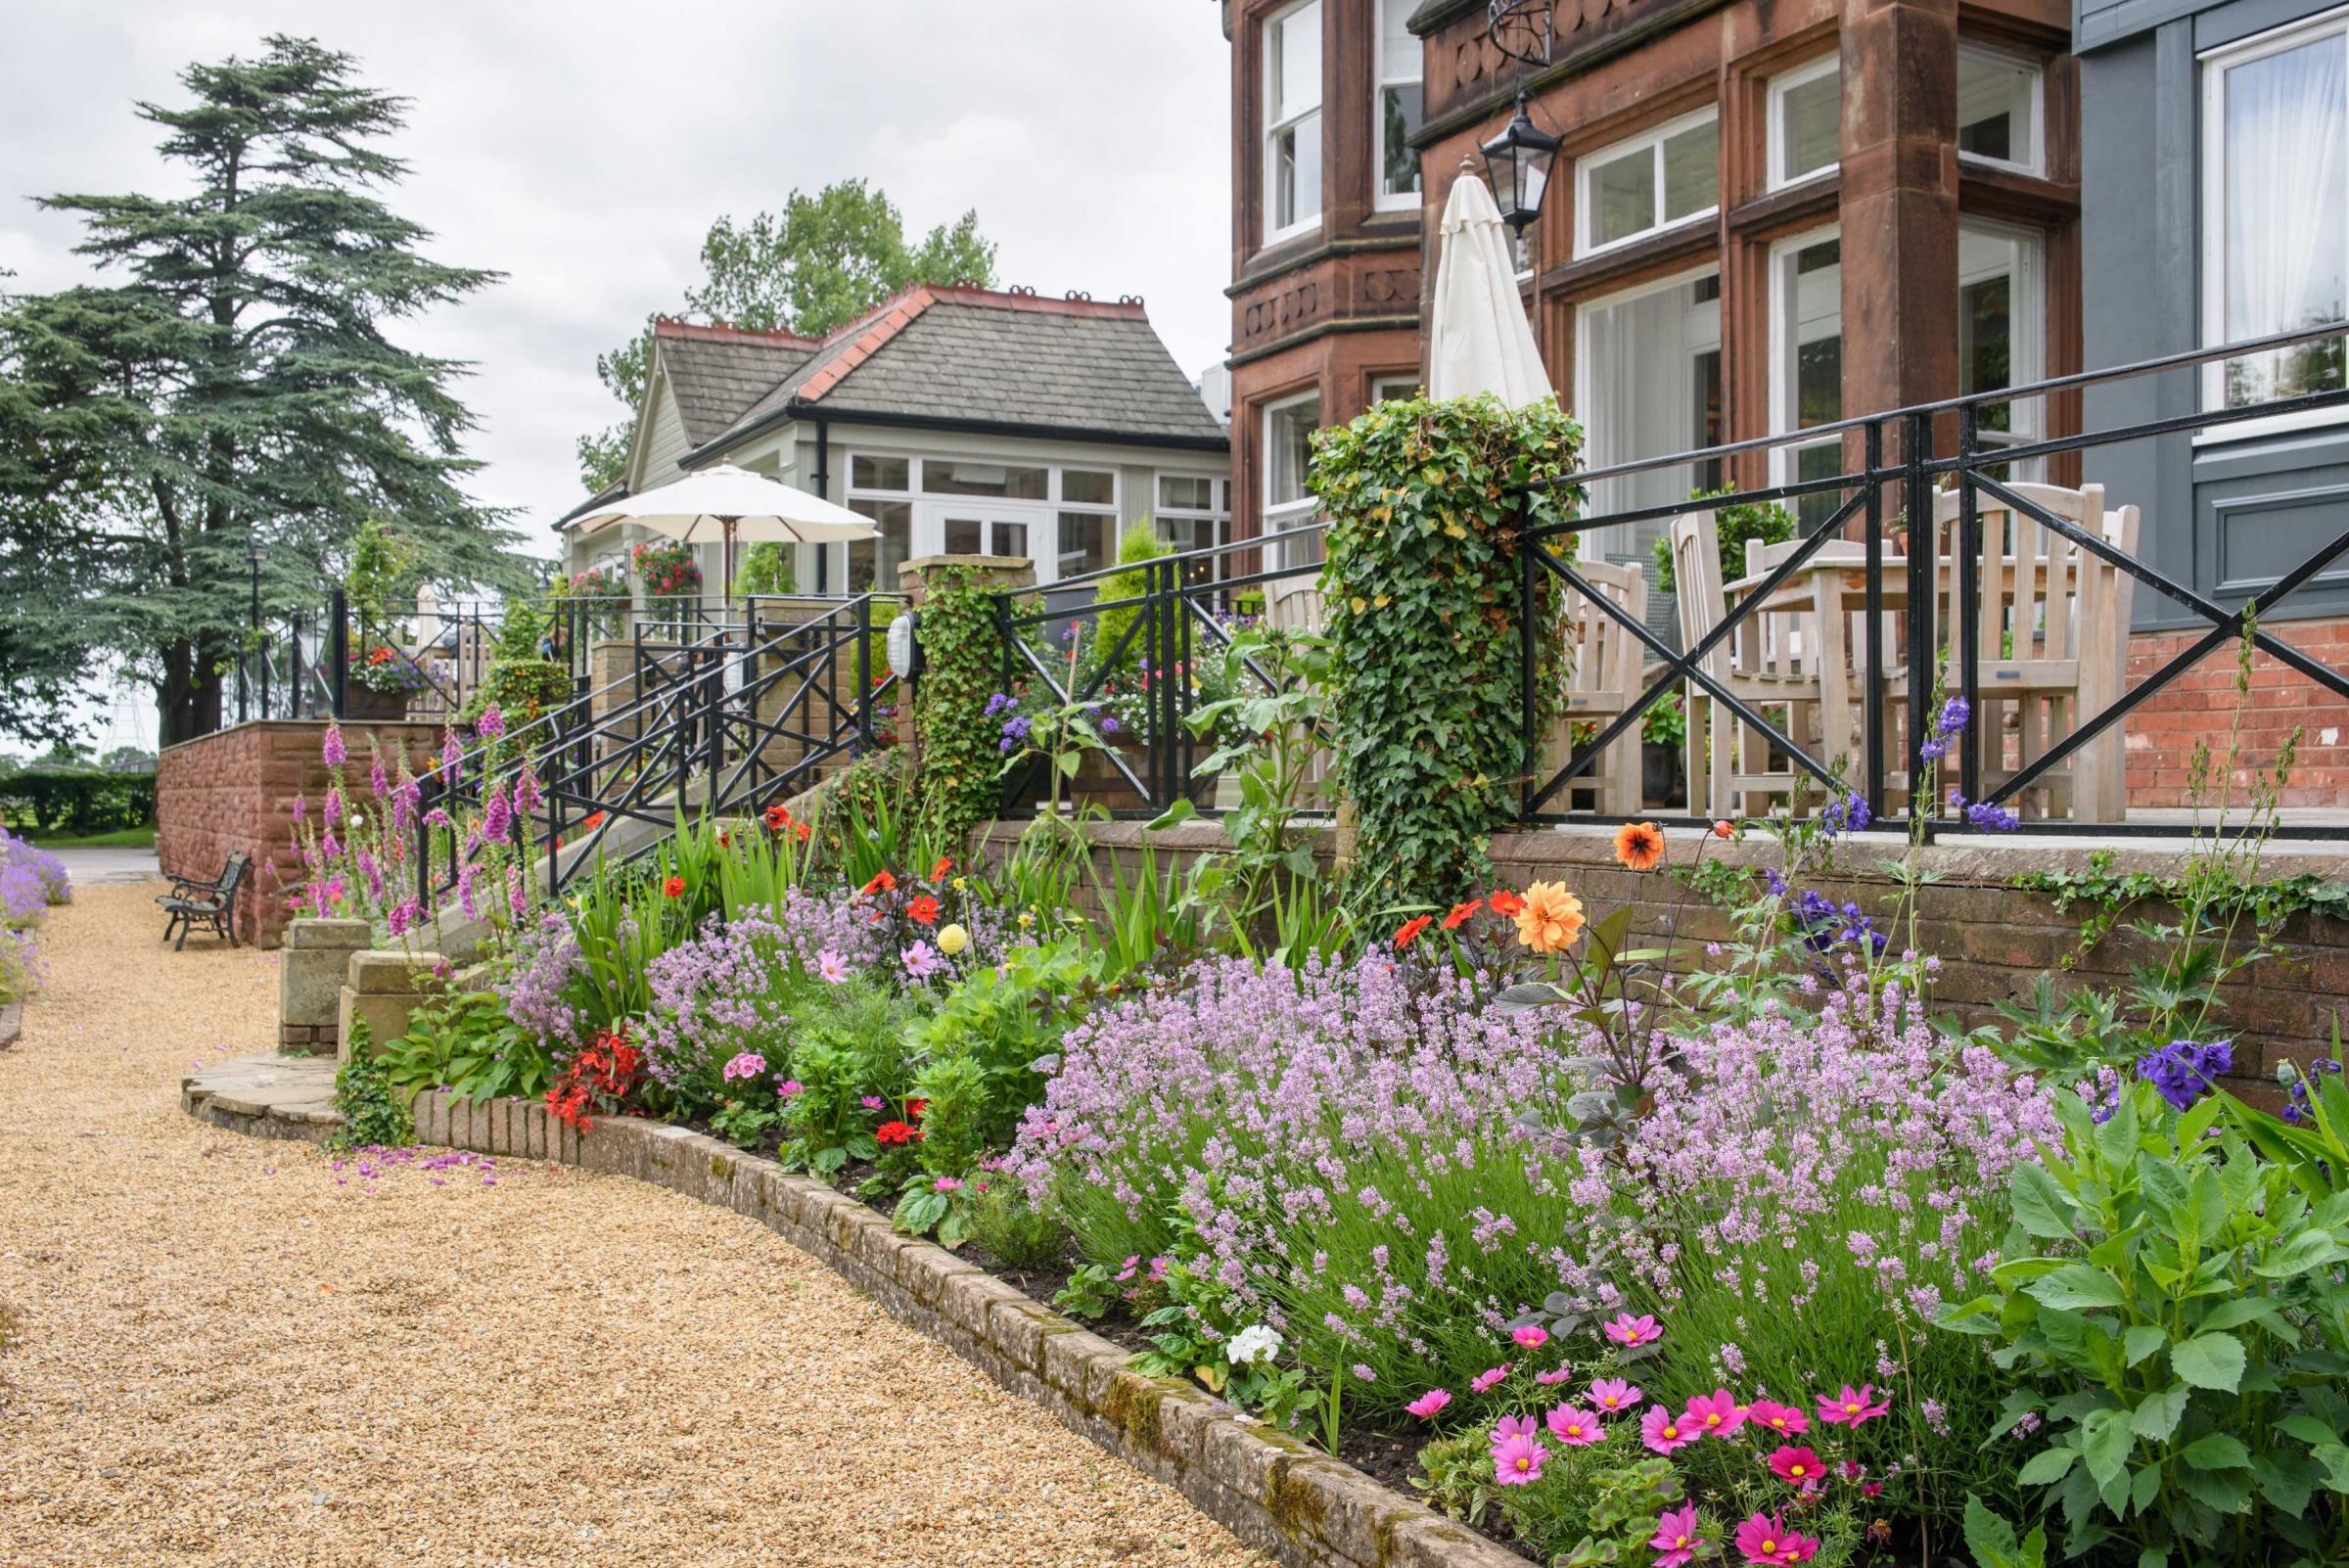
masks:
[(61, 650), (115, 655), (155, 685), (164, 744), (221, 723), (249, 552), (277, 610), (324, 601), (366, 519), (425, 580), (521, 573), (505, 516), (460, 488), (467, 366), (383, 333), (498, 277), (430, 261), (381, 200), (406, 101), (282, 35), (181, 82), (188, 103), (139, 115), (190, 192), (47, 197), (115, 282), (0, 298), (0, 594), (31, 596), (19, 641), (49, 627), (28, 667), (0, 638), (0, 692), (54, 681)]

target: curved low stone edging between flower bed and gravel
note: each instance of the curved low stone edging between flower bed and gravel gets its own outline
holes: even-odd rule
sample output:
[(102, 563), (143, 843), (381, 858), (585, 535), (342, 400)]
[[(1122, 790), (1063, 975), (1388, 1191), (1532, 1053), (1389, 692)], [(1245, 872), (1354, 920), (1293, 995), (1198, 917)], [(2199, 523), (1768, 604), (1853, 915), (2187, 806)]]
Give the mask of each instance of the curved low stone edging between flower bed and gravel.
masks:
[(759, 1221), (1290, 1568), (1525, 1568), (1360, 1469), (1238, 1420), (1191, 1383), (1130, 1371), (1125, 1347), (773, 1160), (665, 1122), (601, 1117), (578, 1134), (533, 1101), (474, 1106), (425, 1091), (413, 1110), (420, 1143), (634, 1176)]

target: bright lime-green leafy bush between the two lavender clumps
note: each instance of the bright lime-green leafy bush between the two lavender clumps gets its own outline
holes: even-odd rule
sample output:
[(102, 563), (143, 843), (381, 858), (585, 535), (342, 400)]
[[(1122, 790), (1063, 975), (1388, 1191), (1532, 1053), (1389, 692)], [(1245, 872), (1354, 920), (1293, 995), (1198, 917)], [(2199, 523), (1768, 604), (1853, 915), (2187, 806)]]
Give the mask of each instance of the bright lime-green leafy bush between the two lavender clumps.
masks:
[(926, 1019), (907, 1030), (916, 1063), (921, 1167), (961, 1176), (987, 1150), (1010, 1148), (1019, 1113), (1043, 1099), (1043, 1073), (1059, 1035), (1076, 1023), (1102, 955), (1076, 937), (1015, 948), (994, 969), (975, 967)]

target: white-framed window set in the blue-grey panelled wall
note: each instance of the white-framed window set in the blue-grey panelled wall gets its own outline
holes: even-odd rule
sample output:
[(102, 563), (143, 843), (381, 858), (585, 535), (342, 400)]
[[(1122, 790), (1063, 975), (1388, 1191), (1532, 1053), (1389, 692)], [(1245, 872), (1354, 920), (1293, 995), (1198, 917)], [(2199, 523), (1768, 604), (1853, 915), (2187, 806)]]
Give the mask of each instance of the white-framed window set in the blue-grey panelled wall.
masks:
[[(2201, 124), (2203, 343), (2349, 315), (2349, 14), (2206, 54)], [(2342, 345), (2323, 338), (2213, 364), (2203, 404), (2248, 408), (2340, 390)], [(2281, 418), (2307, 425), (2342, 411)]]

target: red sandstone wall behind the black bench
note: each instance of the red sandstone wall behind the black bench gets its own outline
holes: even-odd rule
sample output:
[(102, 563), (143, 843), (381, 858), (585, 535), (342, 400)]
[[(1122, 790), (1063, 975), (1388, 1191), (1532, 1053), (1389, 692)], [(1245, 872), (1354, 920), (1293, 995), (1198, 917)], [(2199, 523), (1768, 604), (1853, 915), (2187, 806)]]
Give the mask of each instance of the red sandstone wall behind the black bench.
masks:
[[(287, 925), (287, 883), (294, 878), (294, 798), (327, 793), (319, 744), (327, 721), (291, 718), (242, 723), (167, 746), (155, 761), (155, 857), (164, 876), (211, 880), (237, 850), (254, 857), (254, 873), (237, 892), (233, 925), (240, 941), (277, 946)], [(385, 756), (406, 746), (423, 763), (439, 746), (439, 725), (345, 725), (352, 768), (364, 791), (373, 742)]]

